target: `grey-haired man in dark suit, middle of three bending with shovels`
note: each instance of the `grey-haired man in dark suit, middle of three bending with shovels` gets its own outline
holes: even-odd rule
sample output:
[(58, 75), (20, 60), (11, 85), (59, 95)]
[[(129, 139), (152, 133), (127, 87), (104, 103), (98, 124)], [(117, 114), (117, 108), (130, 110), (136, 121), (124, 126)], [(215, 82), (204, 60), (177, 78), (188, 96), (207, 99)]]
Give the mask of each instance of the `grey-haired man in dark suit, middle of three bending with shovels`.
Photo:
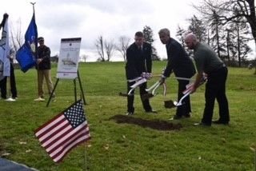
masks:
[[(158, 34), (162, 44), (166, 45), (168, 56), (166, 70), (162, 74), (160, 82), (164, 83), (172, 72), (179, 78), (191, 78), (195, 74), (194, 64), (182, 45), (174, 40), (174, 38), (170, 38), (170, 31), (168, 29), (162, 29)], [(182, 92), (186, 89), (187, 84), (189, 84), (189, 81), (178, 80), (178, 101), (183, 96)], [(184, 99), (184, 104), (178, 106), (174, 119), (190, 117), (190, 112), (190, 96), (188, 96)]]

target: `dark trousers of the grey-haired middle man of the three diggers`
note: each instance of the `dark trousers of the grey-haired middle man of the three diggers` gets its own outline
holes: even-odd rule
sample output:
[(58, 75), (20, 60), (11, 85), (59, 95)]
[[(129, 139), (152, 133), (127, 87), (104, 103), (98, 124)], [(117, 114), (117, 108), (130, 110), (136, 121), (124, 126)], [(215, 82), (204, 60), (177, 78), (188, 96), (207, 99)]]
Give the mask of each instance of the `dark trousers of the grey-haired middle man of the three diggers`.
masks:
[[(178, 80), (178, 101), (184, 96), (182, 92), (186, 89), (186, 85), (189, 83), (190, 82), (186, 80)], [(176, 110), (176, 115), (180, 117), (191, 112), (190, 96), (183, 99), (182, 103), (183, 105), (178, 106)]]

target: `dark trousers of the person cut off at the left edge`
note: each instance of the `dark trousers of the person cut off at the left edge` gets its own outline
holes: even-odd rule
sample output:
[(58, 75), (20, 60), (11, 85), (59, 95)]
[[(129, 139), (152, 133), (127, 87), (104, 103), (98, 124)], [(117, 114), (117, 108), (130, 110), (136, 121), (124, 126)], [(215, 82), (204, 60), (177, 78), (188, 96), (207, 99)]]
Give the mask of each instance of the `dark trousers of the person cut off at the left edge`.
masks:
[[(7, 83), (7, 77), (3, 78), (2, 81), (0, 82), (2, 98), (6, 98), (6, 94), (7, 94), (6, 83)], [(12, 64), (10, 64), (10, 92), (12, 94), (11, 97), (13, 97), (13, 98), (17, 97), (14, 66)]]

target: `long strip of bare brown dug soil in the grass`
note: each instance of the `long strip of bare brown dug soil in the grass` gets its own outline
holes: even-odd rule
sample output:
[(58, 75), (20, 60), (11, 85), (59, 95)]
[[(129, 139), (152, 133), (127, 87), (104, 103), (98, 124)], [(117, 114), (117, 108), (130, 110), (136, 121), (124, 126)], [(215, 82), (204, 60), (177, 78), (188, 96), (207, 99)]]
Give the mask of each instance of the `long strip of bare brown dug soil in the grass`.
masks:
[(142, 127), (148, 127), (150, 129), (158, 129), (158, 130), (175, 130), (175, 129), (181, 129), (181, 124), (173, 124), (167, 121), (160, 121), (158, 119), (154, 120), (145, 120), (138, 117), (130, 117), (126, 115), (115, 115), (114, 117), (110, 117), (110, 120), (114, 120), (118, 124), (126, 123), (126, 124), (133, 124), (133, 125), (139, 125)]

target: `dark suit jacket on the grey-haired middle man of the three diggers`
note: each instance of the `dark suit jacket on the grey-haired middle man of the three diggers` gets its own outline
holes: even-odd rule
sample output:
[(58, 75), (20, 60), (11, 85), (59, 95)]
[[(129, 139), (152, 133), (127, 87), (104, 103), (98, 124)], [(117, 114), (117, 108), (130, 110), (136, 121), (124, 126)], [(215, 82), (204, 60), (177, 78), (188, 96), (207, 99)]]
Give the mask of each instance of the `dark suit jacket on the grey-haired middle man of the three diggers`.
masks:
[(174, 72), (176, 77), (191, 78), (195, 74), (193, 62), (182, 45), (174, 38), (170, 38), (170, 41), (166, 44), (166, 51), (168, 63), (164, 76), (170, 77), (170, 74)]

